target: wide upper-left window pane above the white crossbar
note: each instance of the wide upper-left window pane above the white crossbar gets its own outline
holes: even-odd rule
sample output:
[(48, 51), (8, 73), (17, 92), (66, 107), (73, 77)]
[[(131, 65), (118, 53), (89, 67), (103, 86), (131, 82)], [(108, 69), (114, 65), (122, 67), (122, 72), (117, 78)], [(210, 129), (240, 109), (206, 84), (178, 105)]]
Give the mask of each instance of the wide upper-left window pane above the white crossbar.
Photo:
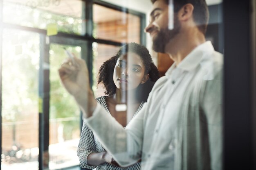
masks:
[(59, 32), (83, 34), (81, 0), (3, 0), (3, 22), (46, 29), (56, 23)]

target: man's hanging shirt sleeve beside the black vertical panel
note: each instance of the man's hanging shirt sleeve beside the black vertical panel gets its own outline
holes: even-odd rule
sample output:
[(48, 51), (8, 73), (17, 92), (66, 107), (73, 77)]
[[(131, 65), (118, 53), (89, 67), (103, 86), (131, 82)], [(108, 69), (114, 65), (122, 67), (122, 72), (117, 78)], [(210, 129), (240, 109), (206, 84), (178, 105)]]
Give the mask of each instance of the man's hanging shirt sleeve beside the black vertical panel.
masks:
[(222, 72), (206, 81), (201, 101), (207, 119), (211, 170), (222, 170)]

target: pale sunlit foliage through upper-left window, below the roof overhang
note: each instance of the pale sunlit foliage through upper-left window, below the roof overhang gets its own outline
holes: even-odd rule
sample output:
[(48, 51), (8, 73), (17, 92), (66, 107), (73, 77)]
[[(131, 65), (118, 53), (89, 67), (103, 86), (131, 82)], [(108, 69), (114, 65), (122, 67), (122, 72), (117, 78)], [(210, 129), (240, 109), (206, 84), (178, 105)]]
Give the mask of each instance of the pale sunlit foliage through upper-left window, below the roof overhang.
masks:
[(59, 32), (82, 34), (81, 17), (56, 14), (12, 2), (4, 2), (3, 21), (40, 29), (46, 29), (47, 24), (56, 23)]

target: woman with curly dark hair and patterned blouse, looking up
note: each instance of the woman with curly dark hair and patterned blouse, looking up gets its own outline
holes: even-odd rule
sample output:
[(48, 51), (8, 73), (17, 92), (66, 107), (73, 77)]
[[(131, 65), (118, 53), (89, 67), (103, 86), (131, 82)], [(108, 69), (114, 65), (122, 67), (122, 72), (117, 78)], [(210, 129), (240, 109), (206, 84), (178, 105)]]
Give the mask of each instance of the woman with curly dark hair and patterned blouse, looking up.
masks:
[[(126, 44), (114, 57), (101, 65), (98, 85), (103, 84), (106, 96), (98, 97), (96, 100), (125, 127), (147, 101), (148, 94), (158, 78), (159, 72), (148, 49), (136, 43)], [(128, 105), (127, 109), (126, 105)], [(123, 169), (101, 146), (85, 123), (83, 123), (77, 155), (81, 168)], [(126, 169), (140, 170), (140, 162)]]

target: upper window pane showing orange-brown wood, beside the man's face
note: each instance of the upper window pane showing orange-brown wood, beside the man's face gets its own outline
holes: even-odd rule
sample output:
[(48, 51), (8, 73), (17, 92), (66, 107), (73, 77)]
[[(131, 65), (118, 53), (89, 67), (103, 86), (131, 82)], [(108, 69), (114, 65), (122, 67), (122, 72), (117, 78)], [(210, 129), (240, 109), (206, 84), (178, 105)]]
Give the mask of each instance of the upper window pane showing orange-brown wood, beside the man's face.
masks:
[(140, 18), (136, 15), (93, 4), (93, 22), (94, 38), (140, 43)]

